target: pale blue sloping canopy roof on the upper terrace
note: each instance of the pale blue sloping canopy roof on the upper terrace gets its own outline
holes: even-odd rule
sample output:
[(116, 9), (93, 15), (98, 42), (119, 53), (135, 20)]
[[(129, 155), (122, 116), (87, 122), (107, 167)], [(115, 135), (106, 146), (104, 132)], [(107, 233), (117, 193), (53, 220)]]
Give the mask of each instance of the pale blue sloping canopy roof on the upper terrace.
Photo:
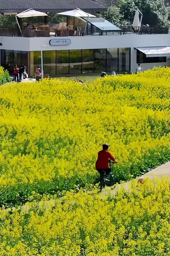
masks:
[(98, 27), (101, 30), (121, 30), (119, 27), (117, 27), (116, 25), (112, 24), (111, 22), (107, 21), (102, 17), (89, 17), (88, 19), (84, 19), (88, 20), (88, 22), (90, 22), (92, 25)]

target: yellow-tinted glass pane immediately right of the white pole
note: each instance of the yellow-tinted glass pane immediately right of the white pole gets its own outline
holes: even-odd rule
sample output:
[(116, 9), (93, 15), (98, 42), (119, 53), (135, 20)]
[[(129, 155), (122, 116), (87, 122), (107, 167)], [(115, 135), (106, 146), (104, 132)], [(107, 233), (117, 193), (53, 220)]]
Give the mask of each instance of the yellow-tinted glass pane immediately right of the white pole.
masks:
[(56, 75), (56, 51), (43, 51), (44, 73)]

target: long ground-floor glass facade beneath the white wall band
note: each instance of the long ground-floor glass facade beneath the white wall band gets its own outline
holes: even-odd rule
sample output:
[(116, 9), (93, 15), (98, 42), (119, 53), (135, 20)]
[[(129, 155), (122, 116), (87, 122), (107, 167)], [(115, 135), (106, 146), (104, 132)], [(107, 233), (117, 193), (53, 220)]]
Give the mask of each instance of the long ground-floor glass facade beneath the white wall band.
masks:
[[(26, 65), (28, 75), (41, 68), (41, 51), (1, 50), (1, 65), (13, 74), (14, 64)], [(50, 76), (130, 71), (130, 48), (43, 51), (44, 74)]]

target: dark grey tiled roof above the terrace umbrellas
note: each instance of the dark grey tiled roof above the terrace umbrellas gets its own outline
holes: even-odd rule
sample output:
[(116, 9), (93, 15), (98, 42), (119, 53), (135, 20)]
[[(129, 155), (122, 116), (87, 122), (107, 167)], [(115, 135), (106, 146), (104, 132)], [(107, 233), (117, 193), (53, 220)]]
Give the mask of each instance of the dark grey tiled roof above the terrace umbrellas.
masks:
[(1, 0), (0, 1), (0, 13), (19, 13), (30, 8), (43, 11), (43, 12), (55, 12), (74, 10), (79, 8), (84, 11), (100, 12), (106, 11), (107, 8), (92, 1), (92, 0), (41, 0), (36, 2), (35, 0)]

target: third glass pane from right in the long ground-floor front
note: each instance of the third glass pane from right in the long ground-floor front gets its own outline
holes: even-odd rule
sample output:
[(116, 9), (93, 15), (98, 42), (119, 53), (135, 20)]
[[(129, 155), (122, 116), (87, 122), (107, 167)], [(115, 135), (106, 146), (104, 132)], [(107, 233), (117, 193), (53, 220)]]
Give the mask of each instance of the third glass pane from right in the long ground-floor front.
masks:
[(106, 49), (94, 49), (95, 72), (106, 71)]

